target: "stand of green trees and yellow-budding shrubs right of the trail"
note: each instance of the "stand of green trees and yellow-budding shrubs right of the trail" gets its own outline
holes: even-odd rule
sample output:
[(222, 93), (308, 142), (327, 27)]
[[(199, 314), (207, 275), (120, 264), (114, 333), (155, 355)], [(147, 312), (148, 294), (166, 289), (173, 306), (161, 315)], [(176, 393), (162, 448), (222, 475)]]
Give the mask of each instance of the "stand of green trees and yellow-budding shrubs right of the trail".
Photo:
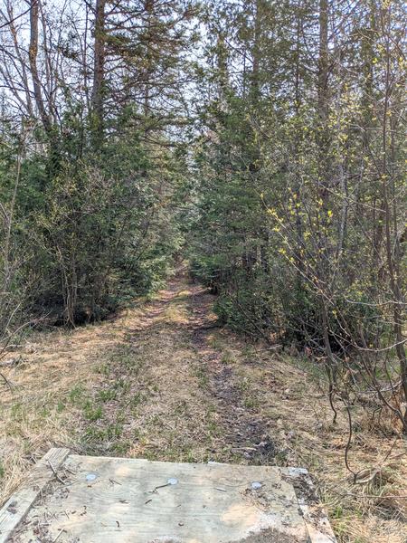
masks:
[[(398, 236), (405, 237), (402, 130), (393, 120), (393, 137), (383, 149), (383, 125), (389, 130), (391, 121), (383, 120), (369, 81), (385, 71), (371, 48), (377, 45), (382, 56), (385, 48), (366, 44), (355, 24), (355, 50), (343, 54), (351, 63), (362, 62), (366, 80), (342, 71), (328, 48), (330, 61), (338, 64), (321, 89), (304, 71), (315, 59), (297, 33), (303, 24), (307, 32), (319, 32), (321, 13), (317, 5), (288, 5), (289, 11), (269, 2), (212, 7), (207, 52), (213, 68), (200, 78), (213, 93), (195, 145), (189, 260), (194, 276), (219, 294), (214, 310), (222, 322), (251, 337), (307, 346), (318, 357), (332, 350), (337, 361), (394, 341), (390, 300), (401, 296), (395, 303), (402, 304), (405, 289), (405, 249), (401, 245), (389, 257)], [(345, 16), (335, 14), (338, 20)], [(364, 5), (360, 16), (363, 27), (377, 13)], [(386, 21), (387, 32), (400, 39), (394, 14)], [(395, 49), (387, 54), (400, 85), (401, 60)], [(242, 56), (245, 69), (239, 71)], [(366, 71), (365, 62), (374, 68)], [(398, 85), (388, 116), (402, 110)], [(392, 174), (381, 171), (373, 149), (380, 157), (388, 153)], [(378, 205), (383, 183), (388, 194), (393, 191), (387, 241)], [(400, 270), (395, 291), (389, 265)]]

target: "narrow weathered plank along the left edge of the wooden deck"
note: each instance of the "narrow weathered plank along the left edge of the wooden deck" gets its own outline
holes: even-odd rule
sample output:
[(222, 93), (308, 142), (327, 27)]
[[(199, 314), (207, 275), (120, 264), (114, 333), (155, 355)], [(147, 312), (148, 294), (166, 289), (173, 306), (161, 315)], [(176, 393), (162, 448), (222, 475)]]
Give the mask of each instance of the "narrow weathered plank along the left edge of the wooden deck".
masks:
[(6, 543), (14, 529), (24, 520), (33, 501), (37, 499), (47, 483), (55, 477), (53, 470), (57, 471), (60, 468), (69, 453), (69, 449), (50, 449), (35, 464), (23, 486), (5, 502), (0, 510), (0, 543)]

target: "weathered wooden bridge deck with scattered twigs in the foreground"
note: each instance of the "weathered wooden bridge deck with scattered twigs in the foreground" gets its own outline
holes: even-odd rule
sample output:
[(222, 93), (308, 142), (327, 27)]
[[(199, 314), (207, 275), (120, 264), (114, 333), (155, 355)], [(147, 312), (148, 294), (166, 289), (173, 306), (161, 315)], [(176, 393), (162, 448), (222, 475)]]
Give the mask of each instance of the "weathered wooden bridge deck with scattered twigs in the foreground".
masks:
[(309, 485), (298, 469), (52, 449), (0, 510), (0, 543), (333, 542)]

